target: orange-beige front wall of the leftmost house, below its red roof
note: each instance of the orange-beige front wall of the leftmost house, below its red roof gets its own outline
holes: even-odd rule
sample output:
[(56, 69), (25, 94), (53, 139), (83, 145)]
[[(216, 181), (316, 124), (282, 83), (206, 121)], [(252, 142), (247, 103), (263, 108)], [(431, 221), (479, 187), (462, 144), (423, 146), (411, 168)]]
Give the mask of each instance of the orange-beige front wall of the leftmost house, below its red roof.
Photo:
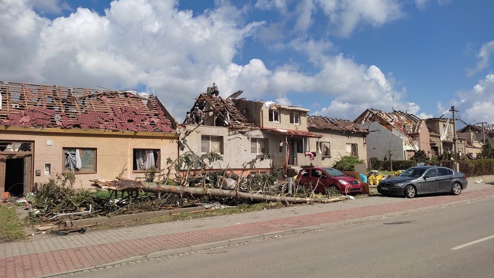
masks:
[[(133, 171), (133, 149), (159, 149), (160, 167), (166, 168), (167, 158), (175, 159), (178, 147), (175, 133), (65, 130), (59, 128), (33, 129), (0, 126), (2, 141), (32, 142), (32, 183), (47, 182), (64, 171), (63, 148), (96, 149), (96, 173), (76, 173), (74, 186), (91, 188), (90, 179), (113, 179), (122, 176), (130, 179), (144, 173)], [(45, 174), (45, 164), (51, 172)], [(40, 175), (36, 175), (39, 170)], [(30, 186), (27, 185), (27, 186)], [(3, 189), (0, 189), (3, 190)]]

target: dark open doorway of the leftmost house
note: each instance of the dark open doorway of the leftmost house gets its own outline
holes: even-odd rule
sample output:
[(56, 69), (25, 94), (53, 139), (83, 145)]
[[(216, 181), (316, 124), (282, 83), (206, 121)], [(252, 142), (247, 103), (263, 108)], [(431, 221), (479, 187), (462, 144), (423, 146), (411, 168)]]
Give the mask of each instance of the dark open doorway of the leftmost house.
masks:
[(22, 197), (25, 190), (25, 158), (9, 158), (5, 161), (5, 188), (15, 197)]

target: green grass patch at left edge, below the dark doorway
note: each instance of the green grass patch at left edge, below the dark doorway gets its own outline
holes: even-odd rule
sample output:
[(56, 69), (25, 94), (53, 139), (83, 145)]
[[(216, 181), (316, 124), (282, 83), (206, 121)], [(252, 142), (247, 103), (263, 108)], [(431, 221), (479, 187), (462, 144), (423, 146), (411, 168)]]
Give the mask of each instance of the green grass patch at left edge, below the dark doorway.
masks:
[(25, 239), (21, 222), (17, 218), (16, 206), (0, 205), (0, 242)]

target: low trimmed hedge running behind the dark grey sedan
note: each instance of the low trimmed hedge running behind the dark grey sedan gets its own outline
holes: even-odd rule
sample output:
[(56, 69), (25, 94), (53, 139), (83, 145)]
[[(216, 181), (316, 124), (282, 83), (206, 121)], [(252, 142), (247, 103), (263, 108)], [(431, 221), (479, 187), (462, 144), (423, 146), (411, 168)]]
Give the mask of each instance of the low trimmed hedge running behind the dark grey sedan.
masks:
[[(453, 163), (458, 162), (460, 164), (460, 172), (465, 173), (467, 176), (482, 176), (482, 175), (494, 175), (494, 159), (471, 159), (471, 160), (443, 160), (443, 161), (429, 161), (426, 165), (442, 165), (454, 169)], [(412, 160), (393, 160), (393, 170), (404, 170), (417, 165), (416, 161)], [(389, 160), (377, 160), (372, 164), (371, 170), (390, 171)]]

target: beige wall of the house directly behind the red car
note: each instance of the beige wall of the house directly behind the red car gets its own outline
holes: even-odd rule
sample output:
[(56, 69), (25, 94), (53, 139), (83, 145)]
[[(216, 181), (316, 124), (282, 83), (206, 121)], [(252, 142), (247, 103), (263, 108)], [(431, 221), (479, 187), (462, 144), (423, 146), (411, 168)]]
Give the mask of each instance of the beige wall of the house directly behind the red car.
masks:
[(309, 131), (323, 135), (321, 138), (310, 138), (311, 151), (316, 150), (318, 142), (329, 142), (331, 157), (323, 158), (321, 154), (317, 154), (313, 161), (314, 165), (324, 167), (332, 167), (343, 156), (347, 156), (347, 144), (357, 144), (357, 153), (360, 159), (367, 163), (367, 146), (362, 133), (342, 133), (341, 131), (331, 131), (310, 128)]

